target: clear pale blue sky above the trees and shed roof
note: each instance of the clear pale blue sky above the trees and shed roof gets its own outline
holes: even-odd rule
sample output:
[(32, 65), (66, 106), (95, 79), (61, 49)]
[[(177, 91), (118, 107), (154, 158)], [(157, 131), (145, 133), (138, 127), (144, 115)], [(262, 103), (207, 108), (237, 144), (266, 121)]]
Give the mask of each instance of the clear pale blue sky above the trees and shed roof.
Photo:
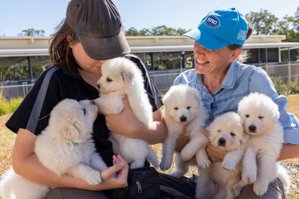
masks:
[[(236, 7), (240, 13), (269, 10), (281, 18), (294, 16), (298, 0), (114, 0), (126, 29), (137, 30), (158, 25), (193, 29), (215, 7)], [(0, 0), (0, 36), (17, 36), (28, 28), (45, 30), (45, 36), (54, 32), (62, 18), (68, 0)]]

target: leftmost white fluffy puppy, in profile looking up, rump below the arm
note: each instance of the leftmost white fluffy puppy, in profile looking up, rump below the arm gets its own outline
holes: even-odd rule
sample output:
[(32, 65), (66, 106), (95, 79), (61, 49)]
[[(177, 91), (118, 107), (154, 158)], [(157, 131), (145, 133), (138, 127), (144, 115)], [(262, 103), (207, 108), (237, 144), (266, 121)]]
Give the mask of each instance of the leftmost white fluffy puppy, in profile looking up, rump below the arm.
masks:
[[(37, 137), (35, 153), (39, 161), (57, 175), (70, 174), (96, 185), (107, 165), (95, 152), (91, 133), (97, 117), (93, 101), (65, 99), (51, 111), (49, 125)], [(0, 183), (3, 199), (44, 198), (49, 186), (28, 181), (9, 169)]]

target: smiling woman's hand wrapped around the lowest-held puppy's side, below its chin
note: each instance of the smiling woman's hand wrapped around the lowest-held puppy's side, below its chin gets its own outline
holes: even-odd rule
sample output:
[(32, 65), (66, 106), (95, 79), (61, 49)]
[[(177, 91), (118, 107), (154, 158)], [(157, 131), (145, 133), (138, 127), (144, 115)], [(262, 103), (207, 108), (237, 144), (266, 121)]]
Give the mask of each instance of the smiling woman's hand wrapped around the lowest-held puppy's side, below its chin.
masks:
[[(205, 134), (208, 138), (210, 137), (210, 132), (206, 129), (200, 129), (200, 131)], [(226, 151), (219, 149), (216, 146), (213, 146), (210, 142), (207, 145), (206, 149), (208, 156), (210, 157), (211, 162), (222, 162), (224, 156), (227, 154)]]

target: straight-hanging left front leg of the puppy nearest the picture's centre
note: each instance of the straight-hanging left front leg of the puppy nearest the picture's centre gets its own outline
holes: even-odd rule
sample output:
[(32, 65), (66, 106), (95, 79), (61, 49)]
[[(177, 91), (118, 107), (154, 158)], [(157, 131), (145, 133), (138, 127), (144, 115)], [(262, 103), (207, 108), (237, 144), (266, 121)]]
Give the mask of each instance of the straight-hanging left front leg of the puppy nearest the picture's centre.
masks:
[(176, 147), (177, 140), (178, 138), (169, 133), (163, 143), (162, 160), (160, 163), (160, 168), (162, 171), (165, 171), (171, 167), (173, 152)]

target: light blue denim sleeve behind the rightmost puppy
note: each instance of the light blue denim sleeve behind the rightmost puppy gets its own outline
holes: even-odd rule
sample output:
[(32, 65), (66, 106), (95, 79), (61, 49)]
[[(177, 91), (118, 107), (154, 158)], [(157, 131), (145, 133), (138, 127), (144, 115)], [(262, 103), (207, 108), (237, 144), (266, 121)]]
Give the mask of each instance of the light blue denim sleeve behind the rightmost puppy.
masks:
[(279, 121), (283, 126), (284, 142), (299, 144), (298, 118), (286, 111), (288, 98), (284, 95), (277, 94), (274, 84), (265, 70), (258, 69), (252, 74), (250, 92), (259, 92), (268, 95), (278, 105), (280, 112)]

